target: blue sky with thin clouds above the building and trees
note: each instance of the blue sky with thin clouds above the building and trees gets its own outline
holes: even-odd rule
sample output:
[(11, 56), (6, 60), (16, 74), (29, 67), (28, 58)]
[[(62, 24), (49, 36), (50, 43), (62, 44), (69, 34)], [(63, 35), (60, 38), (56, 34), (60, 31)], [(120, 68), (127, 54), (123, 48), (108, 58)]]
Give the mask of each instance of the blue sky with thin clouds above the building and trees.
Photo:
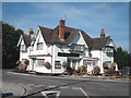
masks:
[(3, 2), (2, 21), (28, 34), (37, 26), (55, 28), (60, 17), (66, 26), (83, 29), (92, 38), (102, 28), (117, 47), (129, 51), (128, 2)]

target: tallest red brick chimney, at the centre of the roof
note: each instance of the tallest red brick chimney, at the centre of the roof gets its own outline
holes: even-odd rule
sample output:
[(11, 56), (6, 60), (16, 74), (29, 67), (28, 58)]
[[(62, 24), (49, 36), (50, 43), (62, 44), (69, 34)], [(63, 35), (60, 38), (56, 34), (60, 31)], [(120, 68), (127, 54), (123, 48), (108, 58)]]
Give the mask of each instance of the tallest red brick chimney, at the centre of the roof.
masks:
[(66, 26), (64, 26), (64, 20), (62, 20), (62, 17), (60, 19), (60, 22), (59, 22), (59, 38), (63, 41), (64, 40), (64, 29), (66, 29)]

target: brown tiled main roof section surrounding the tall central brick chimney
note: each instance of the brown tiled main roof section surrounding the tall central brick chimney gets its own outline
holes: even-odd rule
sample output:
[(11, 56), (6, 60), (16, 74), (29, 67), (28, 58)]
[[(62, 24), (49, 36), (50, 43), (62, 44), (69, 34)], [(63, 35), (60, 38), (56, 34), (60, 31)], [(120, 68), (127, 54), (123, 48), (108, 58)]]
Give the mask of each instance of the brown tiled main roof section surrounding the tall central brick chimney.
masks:
[[(64, 38), (64, 41), (61, 41), (59, 38), (59, 25), (53, 29), (41, 27), (41, 26), (39, 26), (39, 28), (41, 29), (41, 34), (43, 34), (46, 42), (64, 44), (64, 45), (69, 45), (73, 40), (76, 33), (79, 33), (79, 30), (81, 30), (78, 28), (66, 26), (66, 29), (64, 29), (66, 38)], [(87, 34), (85, 34), (83, 30), (81, 30), (81, 33), (82, 33), (82, 36), (84, 37), (84, 40), (87, 44), (87, 46), (92, 47), (92, 41), (93, 41), (92, 38)]]

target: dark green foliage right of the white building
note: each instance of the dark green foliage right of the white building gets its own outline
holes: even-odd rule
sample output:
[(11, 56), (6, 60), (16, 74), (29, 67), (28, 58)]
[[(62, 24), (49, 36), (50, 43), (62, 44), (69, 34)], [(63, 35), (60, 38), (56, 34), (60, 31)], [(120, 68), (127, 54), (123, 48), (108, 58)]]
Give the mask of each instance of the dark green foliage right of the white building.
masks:
[(131, 54), (128, 53), (128, 51), (123, 51), (121, 47), (117, 48), (117, 51), (115, 52), (115, 62), (118, 63), (118, 66), (124, 68), (124, 66), (130, 66), (130, 58)]

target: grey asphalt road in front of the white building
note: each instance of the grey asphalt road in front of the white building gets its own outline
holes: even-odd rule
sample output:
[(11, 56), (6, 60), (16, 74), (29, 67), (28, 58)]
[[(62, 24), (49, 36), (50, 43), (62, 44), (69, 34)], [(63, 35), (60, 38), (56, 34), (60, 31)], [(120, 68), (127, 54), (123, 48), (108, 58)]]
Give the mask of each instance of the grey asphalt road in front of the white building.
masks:
[[(21, 91), (23, 88), (24, 90), (21, 96), (24, 96), (24, 98), (45, 95), (56, 96), (57, 94), (60, 96), (83, 96), (85, 98), (93, 98), (94, 96), (104, 96), (105, 98), (107, 96), (121, 96), (120, 98), (123, 98), (123, 96), (129, 96), (128, 83), (23, 75), (10, 73), (8, 70), (2, 71), (2, 83), (4, 89), (17, 87), (16, 91)], [(11, 93), (12, 90), (8, 91)]]

